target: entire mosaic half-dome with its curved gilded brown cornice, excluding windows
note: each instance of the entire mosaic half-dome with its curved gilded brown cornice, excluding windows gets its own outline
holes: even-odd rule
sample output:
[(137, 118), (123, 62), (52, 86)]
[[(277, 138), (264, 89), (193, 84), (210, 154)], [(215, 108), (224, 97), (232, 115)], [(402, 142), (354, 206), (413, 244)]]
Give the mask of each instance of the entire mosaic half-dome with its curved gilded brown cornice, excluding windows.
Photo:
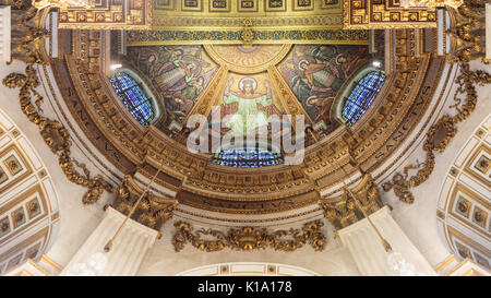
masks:
[[(67, 38), (74, 41), (74, 51), (51, 67), (57, 83), (70, 86), (61, 93), (70, 98), (74, 119), (111, 167), (129, 176), (125, 186), (142, 189), (160, 169), (157, 193), (177, 198), (178, 210), (271, 214), (315, 206), (320, 195), (336, 203), (343, 200), (339, 182), (347, 176), (366, 190), (372, 181), (367, 172), (391, 158), (421, 120), (444, 64), (444, 59), (430, 53), (432, 44), (417, 39), (410, 29), (396, 35), (375, 32), (372, 50), (367, 37), (349, 40), (349, 34), (323, 44), (270, 45), (179, 45), (159, 40), (158, 34), (132, 32), (127, 47), (121, 47), (120, 33), (71, 31)], [(104, 50), (107, 44), (110, 51)], [(112, 64), (121, 68), (111, 70)], [(124, 70), (141, 79), (157, 105), (157, 117), (148, 127), (133, 119), (111, 86), (110, 79)], [(385, 83), (348, 129), (339, 107), (368, 70), (384, 73)], [(206, 126), (187, 127), (196, 115)], [(299, 129), (292, 118), (272, 121), (288, 115), (303, 116), (307, 129)], [(219, 146), (209, 144), (208, 152), (188, 146), (193, 132), (208, 128), (211, 138), (199, 139), (200, 145), (216, 135), (221, 141), (244, 136), (259, 127), (267, 127), (267, 140), (273, 140), (277, 122), (291, 122), (292, 136), (307, 130), (298, 163), (260, 170), (223, 166), (214, 162)], [(284, 148), (279, 153), (285, 158), (296, 154)]]

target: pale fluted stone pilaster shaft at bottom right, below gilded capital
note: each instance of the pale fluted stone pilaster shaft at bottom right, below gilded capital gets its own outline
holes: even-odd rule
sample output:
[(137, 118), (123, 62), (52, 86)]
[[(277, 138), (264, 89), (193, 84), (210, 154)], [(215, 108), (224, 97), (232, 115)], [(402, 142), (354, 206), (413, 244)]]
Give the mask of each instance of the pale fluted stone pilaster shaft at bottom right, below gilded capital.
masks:
[[(394, 220), (387, 206), (371, 214), (370, 218), (393, 251), (399, 252), (415, 266), (416, 272), (435, 275), (432, 266)], [(387, 252), (367, 218), (338, 230), (338, 235), (362, 275), (395, 275), (388, 267)]]

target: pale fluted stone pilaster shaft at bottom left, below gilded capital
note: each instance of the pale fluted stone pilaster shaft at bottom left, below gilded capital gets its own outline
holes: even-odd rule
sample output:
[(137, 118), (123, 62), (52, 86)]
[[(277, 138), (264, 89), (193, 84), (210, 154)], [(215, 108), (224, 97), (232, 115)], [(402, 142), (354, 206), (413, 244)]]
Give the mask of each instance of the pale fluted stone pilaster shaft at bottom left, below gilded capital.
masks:
[[(70, 260), (61, 275), (70, 275), (70, 273), (76, 272), (77, 264), (87, 263), (95, 253), (105, 253), (104, 247), (116, 234), (124, 218), (123, 214), (108, 207), (100, 224)], [(105, 253), (107, 266), (99, 275), (135, 275), (143, 258), (153, 247), (157, 236), (157, 230), (129, 219), (116, 238), (111, 250)]]

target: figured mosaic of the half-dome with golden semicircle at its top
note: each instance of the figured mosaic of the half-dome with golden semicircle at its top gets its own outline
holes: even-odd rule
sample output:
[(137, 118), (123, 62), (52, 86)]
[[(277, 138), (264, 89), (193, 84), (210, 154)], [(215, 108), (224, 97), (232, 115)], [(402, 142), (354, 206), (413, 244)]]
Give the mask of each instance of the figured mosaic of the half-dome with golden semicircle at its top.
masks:
[[(221, 135), (246, 135), (266, 123), (268, 117), (295, 115), (278, 96), (284, 92), (278, 90), (283, 85), (288, 85), (300, 103), (297, 114), (302, 114), (309, 123), (323, 127), (326, 134), (339, 126), (332, 119), (338, 91), (366, 67), (371, 55), (367, 46), (209, 45), (130, 47), (125, 59), (159, 94), (165, 114), (156, 126), (167, 134), (181, 130), (189, 116), (196, 114), (196, 106), (203, 105), (201, 98), (216, 92), (207, 87), (218, 68), (228, 70), (223, 79), (227, 84), (225, 88), (221, 85), (213, 103), (217, 108), (207, 107), (209, 112), (204, 116), (211, 126), (220, 128)], [(280, 73), (280, 84), (272, 80), (272, 72)], [(246, 91), (248, 84), (250, 92)], [(256, 98), (255, 104), (244, 106), (249, 97)], [(215, 123), (214, 119), (219, 120)], [(242, 119), (248, 119), (249, 124)]]

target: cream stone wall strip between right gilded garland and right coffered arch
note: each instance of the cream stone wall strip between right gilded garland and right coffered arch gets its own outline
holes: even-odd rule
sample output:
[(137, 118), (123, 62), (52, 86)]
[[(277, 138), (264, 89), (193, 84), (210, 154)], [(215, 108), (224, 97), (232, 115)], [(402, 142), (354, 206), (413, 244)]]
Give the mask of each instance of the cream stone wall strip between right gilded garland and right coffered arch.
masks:
[[(488, 72), (491, 70), (490, 65), (483, 65), (477, 61), (472, 61), (470, 65), (472, 69), (484, 69)], [(457, 134), (446, 150), (443, 153), (435, 154), (436, 164), (430, 178), (421, 186), (411, 188), (415, 202), (406, 204), (399, 201), (393, 191), (382, 192), (383, 201), (394, 207), (393, 216), (395, 220), (431, 265), (438, 264), (451, 253), (445, 248), (444, 240), (441, 239), (436, 226), (439, 192), (444, 183), (448, 165), (458, 155), (469, 135), (491, 111), (491, 86), (478, 86), (477, 91), (479, 99), (476, 110), (464, 122), (456, 126)], [(441, 116), (452, 112), (447, 107), (453, 104), (453, 94), (452, 92), (448, 96), (445, 109), (440, 114)], [(424, 155), (417, 151), (408, 157), (408, 163), (414, 163), (416, 159), (421, 162), (423, 158)], [(403, 167), (406, 165), (403, 164)]]

